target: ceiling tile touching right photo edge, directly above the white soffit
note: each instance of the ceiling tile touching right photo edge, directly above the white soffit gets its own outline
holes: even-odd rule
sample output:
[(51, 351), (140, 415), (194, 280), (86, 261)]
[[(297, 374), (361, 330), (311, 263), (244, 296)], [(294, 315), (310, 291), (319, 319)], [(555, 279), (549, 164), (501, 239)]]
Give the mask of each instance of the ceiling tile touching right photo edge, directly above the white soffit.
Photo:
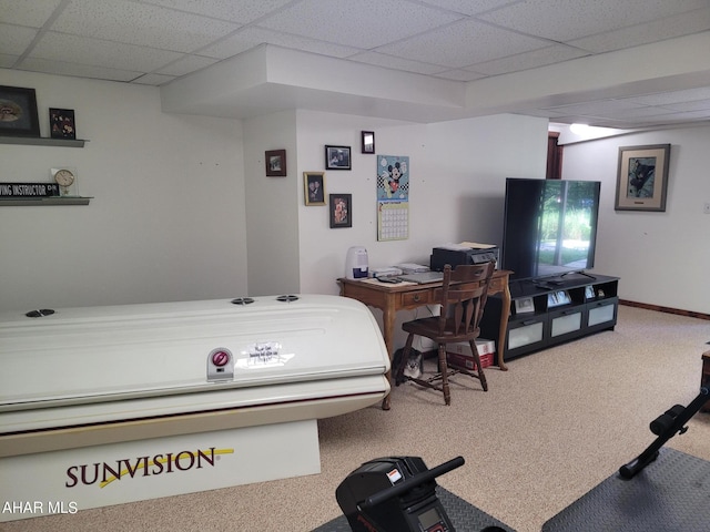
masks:
[(690, 35), (710, 29), (710, 8), (688, 11), (667, 19), (636, 24), (567, 43), (594, 53), (639, 47), (674, 37)]

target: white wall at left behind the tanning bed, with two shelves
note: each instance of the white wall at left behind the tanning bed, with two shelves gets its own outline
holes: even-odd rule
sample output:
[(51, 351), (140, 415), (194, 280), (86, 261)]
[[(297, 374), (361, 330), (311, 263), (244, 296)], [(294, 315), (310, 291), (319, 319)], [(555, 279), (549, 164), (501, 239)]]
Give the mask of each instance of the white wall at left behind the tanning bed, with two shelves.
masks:
[(74, 109), (84, 149), (0, 145), (0, 181), (77, 168), (88, 206), (0, 207), (0, 310), (232, 297), (246, 291), (242, 125), (169, 115), (159, 90), (0, 70)]

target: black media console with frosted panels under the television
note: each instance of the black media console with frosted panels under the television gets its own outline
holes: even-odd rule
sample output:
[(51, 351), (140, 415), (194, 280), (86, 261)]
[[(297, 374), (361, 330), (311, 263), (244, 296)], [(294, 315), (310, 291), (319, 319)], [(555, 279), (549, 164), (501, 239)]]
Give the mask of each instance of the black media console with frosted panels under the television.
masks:
[[(601, 330), (613, 330), (618, 277), (568, 274), (510, 280), (510, 318), (504, 360), (539, 351)], [(503, 299), (489, 296), (480, 336), (498, 338)]]

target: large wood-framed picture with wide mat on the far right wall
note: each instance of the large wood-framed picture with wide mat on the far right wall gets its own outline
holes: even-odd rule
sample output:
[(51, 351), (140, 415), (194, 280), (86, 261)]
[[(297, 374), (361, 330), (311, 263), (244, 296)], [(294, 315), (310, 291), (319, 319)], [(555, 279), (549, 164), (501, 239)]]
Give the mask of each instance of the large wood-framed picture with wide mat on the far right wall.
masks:
[(616, 211), (666, 211), (670, 144), (619, 147)]

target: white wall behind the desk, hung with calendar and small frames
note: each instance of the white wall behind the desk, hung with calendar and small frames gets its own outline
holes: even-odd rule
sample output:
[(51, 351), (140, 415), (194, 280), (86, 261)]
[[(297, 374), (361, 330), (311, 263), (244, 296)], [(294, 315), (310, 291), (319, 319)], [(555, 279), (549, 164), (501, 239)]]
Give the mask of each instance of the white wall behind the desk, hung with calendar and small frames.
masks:
[[(409, 156), (409, 238), (377, 242), (376, 156), (359, 151), (375, 131), (383, 155)], [(298, 172), (324, 171), (324, 146), (352, 147), (352, 171), (325, 173), (326, 196), (353, 194), (353, 227), (331, 229), (326, 206), (305, 206), (300, 191), (301, 290), (337, 294), (347, 248), (367, 248), (372, 267), (429, 263), (452, 242), (500, 244), (505, 177), (544, 176), (547, 120), (498, 115), (438, 124), (298, 112)], [(511, 155), (515, 154), (515, 155)], [(327, 200), (327, 197), (326, 197)]]

